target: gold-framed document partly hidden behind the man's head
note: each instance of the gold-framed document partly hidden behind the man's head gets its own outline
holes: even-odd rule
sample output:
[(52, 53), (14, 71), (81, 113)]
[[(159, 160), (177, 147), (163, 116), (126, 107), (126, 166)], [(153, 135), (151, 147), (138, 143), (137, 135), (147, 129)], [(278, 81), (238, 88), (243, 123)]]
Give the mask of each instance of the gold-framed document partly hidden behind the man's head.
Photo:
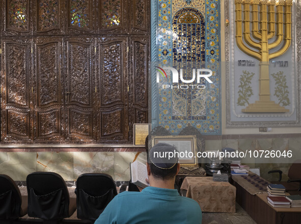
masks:
[[(152, 136), (152, 146), (158, 143), (168, 143), (173, 145), (179, 151), (180, 155), (187, 155), (186, 157), (179, 157), (181, 167), (198, 166), (198, 156), (196, 153), (197, 137), (195, 135)], [(187, 153), (185, 153), (185, 151)]]

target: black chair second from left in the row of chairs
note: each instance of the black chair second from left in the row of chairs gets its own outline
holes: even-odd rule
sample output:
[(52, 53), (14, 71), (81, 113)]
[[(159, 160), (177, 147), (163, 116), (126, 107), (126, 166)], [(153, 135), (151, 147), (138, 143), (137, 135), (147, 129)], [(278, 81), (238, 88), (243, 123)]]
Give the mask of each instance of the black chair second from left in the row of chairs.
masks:
[(26, 178), (28, 215), (44, 223), (59, 223), (76, 210), (76, 199), (69, 197), (66, 182), (52, 172), (34, 172)]

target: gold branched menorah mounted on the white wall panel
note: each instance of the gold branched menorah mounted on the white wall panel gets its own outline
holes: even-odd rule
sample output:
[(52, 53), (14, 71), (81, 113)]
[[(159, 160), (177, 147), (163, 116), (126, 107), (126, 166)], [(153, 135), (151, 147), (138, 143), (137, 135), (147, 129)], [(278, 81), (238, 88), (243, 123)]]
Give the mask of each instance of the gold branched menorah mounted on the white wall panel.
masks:
[[(248, 113), (289, 112), (288, 109), (270, 101), (268, 67), (270, 59), (284, 54), (290, 47), (292, 0), (235, 0), (235, 7), (237, 46), (244, 53), (260, 61), (259, 101), (249, 104), (241, 111)], [(275, 14), (277, 21), (275, 21)], [(252, 31), (250, 30), (251, 23)], [(269, 40), (274, 37), (276, 37), (275, 41), (269, 43)], [(280, 49), (270, 52), (276, 47)]]

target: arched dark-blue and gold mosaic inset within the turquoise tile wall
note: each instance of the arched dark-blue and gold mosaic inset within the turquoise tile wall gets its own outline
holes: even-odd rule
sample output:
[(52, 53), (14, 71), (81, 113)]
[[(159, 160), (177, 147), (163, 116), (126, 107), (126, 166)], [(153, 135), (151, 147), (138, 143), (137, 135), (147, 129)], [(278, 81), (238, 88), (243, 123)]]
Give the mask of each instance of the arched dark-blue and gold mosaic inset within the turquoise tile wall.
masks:
[[(183, 8), (173, 17), (173, 67), (183, 69), (183, 76), (190, 80), (194, 68), (205, 62), (205, 19), (194, 8)], [(181, 83), (184, 84), (184, 83)], [(202, 83), (204, 84), (204, 83)], [(173, 120), (205, 120), (206, 91), (203, 89), (172, 90)]]

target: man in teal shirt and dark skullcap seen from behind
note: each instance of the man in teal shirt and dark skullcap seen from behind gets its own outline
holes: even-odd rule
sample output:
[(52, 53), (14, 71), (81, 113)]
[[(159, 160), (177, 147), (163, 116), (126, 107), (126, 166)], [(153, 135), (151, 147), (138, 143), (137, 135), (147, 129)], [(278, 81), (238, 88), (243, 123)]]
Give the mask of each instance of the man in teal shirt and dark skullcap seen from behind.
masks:
[[(174, 152), (166, 143), (158, 143), (148, 153), (147, 174), (150, 186), (141, 192), (124, 191), (106, 206), (95, 221), (102, 223), (202, 223), (202, 211), (193, 199), (181, 197), (174, 189), (180, 169), (178, 158), (157, 158), (159, 152)], [(155, 152), (158, 152), (154, 154)]]

